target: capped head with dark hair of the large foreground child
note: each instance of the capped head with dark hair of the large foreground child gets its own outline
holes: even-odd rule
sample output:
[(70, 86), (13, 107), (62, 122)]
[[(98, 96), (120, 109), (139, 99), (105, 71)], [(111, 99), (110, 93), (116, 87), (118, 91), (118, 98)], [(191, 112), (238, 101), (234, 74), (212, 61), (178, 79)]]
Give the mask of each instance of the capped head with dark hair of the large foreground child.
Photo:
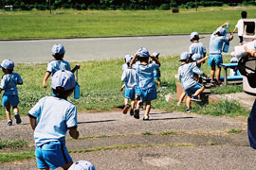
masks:
[(72, 72), (67, 70), (57, 71), (51, 79), (53, 93), (59, 98), (66, 99), (75, 89), (76, 81)]

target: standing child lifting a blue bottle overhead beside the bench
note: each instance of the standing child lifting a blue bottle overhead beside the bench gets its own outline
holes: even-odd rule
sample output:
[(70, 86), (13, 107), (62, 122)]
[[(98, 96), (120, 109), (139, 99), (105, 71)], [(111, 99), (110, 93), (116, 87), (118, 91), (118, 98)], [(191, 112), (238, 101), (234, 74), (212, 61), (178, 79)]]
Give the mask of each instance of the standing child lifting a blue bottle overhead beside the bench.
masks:
[[(210, 85), (220, 85), (220, 74), (221, 74), (221, 64), (222, 59), (222, 47), (223, 43), (229, 42), (233, 39), (233, 34), (226, 37), (227, 31), (224, 26), (227, 26), (229, 22), (218, 27), (210, 36), (210, 59), (208, 60), (208, 65), (211, 67), (210, 71)], [(216, 82), (214, 81), (214, 76), (216, 72)]]

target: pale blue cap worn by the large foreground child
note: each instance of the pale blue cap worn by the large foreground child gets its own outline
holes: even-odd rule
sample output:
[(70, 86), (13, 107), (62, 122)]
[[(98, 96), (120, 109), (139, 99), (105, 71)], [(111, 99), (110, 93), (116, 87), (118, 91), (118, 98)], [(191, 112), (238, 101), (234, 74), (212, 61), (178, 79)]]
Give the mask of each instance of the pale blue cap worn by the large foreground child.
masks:
[(72, 72), (67, 70), (57, 71), (51, 78), (51, 88), (63, 87), (64, 91), (71, 90), (75, 87), (75, 76)]

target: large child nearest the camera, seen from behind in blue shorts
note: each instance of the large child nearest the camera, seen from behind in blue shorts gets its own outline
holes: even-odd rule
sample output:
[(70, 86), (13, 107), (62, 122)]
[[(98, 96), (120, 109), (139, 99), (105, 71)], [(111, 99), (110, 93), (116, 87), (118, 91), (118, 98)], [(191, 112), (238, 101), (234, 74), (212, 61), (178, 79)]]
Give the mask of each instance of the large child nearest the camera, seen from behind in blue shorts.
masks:
[(67, 101), (75, 88), (75, 76), (59, 70), (51, 79), (56, 96), (46, 96), (28, 111), (30, 126), (34, 130), (35, 157), (39, 169), (68, 169), (73, 163), (65, 147), (66, 131), (78, 139), (77, 109)]

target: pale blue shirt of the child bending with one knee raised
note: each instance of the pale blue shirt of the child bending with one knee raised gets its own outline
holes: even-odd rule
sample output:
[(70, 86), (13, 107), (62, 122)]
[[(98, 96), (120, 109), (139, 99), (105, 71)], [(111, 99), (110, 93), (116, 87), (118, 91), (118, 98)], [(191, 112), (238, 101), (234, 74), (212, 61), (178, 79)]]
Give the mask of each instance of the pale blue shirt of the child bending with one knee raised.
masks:
[(193, 78), (194, 73), (197, 75), (203, 75), (203, 72), (197, 67), (196, 62), (182, 64), (178, 68), (178, 77), (181, 79), (182, 88), (184, 90), (187, 90), (197, 84)]

